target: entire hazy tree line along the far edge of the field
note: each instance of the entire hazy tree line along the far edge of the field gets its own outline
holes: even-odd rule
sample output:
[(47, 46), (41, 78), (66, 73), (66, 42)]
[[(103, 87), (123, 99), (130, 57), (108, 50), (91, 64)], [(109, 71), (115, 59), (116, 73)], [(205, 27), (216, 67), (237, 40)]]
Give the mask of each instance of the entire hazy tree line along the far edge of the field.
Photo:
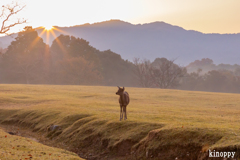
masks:
[[(108, 85), (173, 88), (239, 93), (240, 68), (236, 71), (201, 69), (192, 73), (174, 60), (153, 62), (123, 60), (111, 50), (99, 51), (88, 41), (69, 35), (56, 37), (51, 46), (37, 31), (25, 27), (0, 58), (0, 83)], [(3, 54), (4, 52), (4, 54)], [(212, 63), (209, 59), (190, 66)]]

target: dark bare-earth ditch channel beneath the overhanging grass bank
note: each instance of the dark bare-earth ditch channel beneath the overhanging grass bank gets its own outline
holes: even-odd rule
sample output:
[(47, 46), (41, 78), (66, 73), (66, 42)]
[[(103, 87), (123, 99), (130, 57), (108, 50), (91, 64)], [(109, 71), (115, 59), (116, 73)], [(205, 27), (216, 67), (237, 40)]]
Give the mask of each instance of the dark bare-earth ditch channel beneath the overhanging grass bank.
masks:
[[(202, 144), (215, 144), (222, 137), (221, 135), (198, 134), (193, 131), (187, 131), (182, 135), (180, 129), (174, 131), (153, 130), (141, 141), (133, 141), (132, 139), (119, 140), (114, 145), (110, 145), (110, 139), (103, 139), (102, 135), (88, 136), (79, 146), (69, 146), (65, 143), (56, 143), (55, 138), (47, 138), (47, 134), (43, 135), (39, 132), (32, 132), (29, 128), (23, 128), (14, 125), (0, 125), (6, 132), (11, 132), (17, 136), (30, 138), (44, 145), (63, 148), (73, 151), (79, 157), (88, 160), (124, 160), (124, 159), (156, 159), (156, 160), (211, 160), (223, 158), (210, 158), (207, 150), (204, 150)], [(199, 132), (202, 133), (202, 132)], [(192, 135), (192, 142), (179, 143), (185, 141), (186, 136)], [(173, 137), (171, 137), (173, 136)], [(177, 138), (177, 141), (170, 142), (169, 139)], [(196, 139), (203, 143), (197, 143)], [(175, 144), (178, 143), (178, 144)], [(85, 146), (85, 147), (81, 147)], [(205, 145), (206, 147), (206, 145)], [(218, 151), (236, 152), (235, 158), (239, 157), (237, 146), (219, 148)]]

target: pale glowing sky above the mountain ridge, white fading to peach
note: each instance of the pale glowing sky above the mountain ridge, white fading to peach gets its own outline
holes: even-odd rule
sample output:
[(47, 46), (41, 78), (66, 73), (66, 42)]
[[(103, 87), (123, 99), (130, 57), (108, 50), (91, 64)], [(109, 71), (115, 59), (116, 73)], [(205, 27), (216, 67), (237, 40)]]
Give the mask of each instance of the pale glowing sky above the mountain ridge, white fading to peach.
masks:
[[(29, 22), (25, 25), (33, 27), (73, 26), (120, 19), (133, 24), (164, 21), (203, 33), (240, 33), (240, 0), (18, 1), (26, 4), (18, 16), (25, 17)], [(0, 0), (0, 5), (10, 2)]]

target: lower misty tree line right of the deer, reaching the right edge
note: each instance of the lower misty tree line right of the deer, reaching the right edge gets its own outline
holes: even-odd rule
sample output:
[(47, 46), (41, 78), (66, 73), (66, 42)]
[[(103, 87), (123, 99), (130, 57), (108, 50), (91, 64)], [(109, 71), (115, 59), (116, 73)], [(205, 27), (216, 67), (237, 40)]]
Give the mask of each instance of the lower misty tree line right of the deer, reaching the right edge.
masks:
[[(208, 58), (196, 60), (187, 67), (166, 58), (156, 58), (153, 62), (135, 58), (134, 64), (142, 87), (240, 93), (240, 66), (237, 64), (215, 65)], [(210, 70), (209, 66), (215, 68)]]

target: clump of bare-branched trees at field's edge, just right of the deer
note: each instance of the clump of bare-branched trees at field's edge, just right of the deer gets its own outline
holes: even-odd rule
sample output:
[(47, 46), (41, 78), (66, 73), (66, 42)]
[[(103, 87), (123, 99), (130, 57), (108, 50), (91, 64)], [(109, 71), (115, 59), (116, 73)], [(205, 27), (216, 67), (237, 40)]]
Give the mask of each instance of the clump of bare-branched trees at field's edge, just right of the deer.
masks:
[(154, 62), (134, 58), (135, 74), (142, 87), (174, 88), (179, 85), (186, 69), (174, 63), (174, 60), (156, 58)]

